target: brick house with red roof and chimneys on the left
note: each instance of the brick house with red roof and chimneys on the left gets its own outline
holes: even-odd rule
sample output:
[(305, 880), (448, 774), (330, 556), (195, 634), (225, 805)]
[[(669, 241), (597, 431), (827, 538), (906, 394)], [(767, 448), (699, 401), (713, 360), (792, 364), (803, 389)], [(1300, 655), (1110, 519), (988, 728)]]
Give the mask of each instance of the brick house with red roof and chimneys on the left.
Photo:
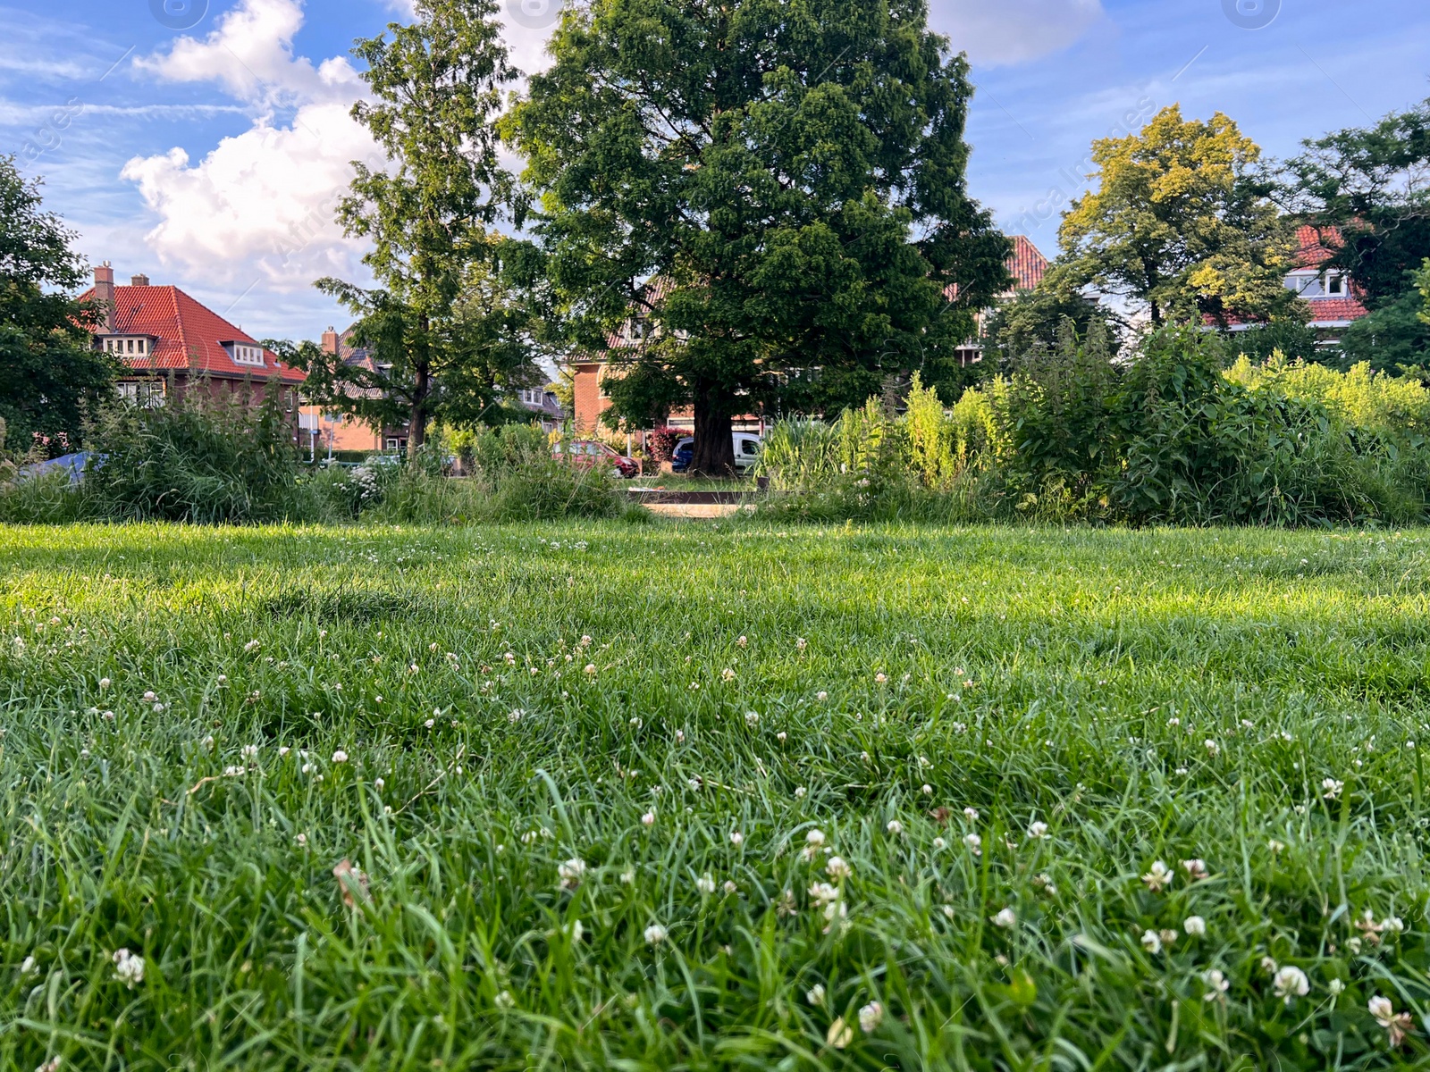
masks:
[(270, 390), (280, 390), (296, 436), (297, 393), (306, 377), (242, 327), (176, 286), (152, 286), (147, 276), (114, 286), (109, 263), (94, 269), (94, 287), (83, 297), (103, 309), (94, 347), (126, 366), (117, 382), (122, 397), (162, 406), (170, 392), (182, 394), (202, 383), (212, 397), (239, 392), (247, 405), (259, 406)]

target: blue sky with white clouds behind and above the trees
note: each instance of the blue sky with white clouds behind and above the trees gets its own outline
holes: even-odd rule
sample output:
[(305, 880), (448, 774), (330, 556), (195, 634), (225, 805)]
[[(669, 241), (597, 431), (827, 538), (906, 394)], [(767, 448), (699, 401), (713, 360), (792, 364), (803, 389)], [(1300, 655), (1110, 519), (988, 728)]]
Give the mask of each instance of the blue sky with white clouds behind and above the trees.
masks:
[[(502, 0), (526, 69), (549, 1)], [(363, 277), (362, 247), (332, 223), (347, 162), (372, 152), (346, 116), (360, 90), (347, 50), (403, 3), (0, 0), (0, 153), (44, 177), (83, 253), (120, 280), (177, 283), (259, 336), (316, 337), (342, 313), (312, 280)], [(1423, 0), (930, 4), (974, 64), (971, 189), (1050, 256), (1091, 140), (1155, 109), (1226, 111), (1284, 156), (1430, 97)]]

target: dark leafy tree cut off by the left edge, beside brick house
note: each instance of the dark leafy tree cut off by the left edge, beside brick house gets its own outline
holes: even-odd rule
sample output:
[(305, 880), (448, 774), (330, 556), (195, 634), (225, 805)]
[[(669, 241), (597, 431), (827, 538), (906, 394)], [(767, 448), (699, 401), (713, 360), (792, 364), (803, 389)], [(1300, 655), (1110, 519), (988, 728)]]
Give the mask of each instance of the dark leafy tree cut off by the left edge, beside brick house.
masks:
[(0, 157), (0, 420), (13, 450), (79, 443), (110, 397), (114, 359), (94, 349), (103, 310), (79, 302), (84, 260), (74, 233), (43, 210), (39, 180)]

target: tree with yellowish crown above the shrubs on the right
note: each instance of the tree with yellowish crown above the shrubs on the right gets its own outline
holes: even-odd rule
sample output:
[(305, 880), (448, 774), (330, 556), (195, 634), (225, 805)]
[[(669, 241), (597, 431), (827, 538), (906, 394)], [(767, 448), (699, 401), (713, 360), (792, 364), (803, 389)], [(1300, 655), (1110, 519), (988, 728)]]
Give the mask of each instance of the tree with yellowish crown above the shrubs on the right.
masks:
[(1304, 317), (1283, 282), (1293, 234), (1260, 156), (1220, 111), (1183, 120), (1178, 106), (1094, 142), (1095, 189), (1062, 217), (1060, 263), (1077, 286), (1141, 303), (1157, 327)]

